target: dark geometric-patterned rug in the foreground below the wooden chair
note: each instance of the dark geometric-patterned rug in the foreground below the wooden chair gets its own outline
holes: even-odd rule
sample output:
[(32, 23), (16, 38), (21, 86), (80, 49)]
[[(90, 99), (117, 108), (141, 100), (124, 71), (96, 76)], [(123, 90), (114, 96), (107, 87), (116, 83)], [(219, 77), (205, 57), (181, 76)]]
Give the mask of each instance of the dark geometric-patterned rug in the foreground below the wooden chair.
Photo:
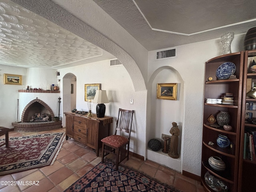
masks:
[(100, 162), (65, 192), (180, 192), (172, 186), (160, 184), (144, 174), (115, 164)]

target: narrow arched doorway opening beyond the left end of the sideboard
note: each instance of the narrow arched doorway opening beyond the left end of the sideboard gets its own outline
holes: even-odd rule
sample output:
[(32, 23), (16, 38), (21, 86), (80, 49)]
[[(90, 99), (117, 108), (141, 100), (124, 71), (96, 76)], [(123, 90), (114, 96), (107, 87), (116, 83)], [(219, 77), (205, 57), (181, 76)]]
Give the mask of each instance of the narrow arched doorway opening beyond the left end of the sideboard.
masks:
[[(71, 111), (76, 108), (76, 76), (72, 73), (67, 73), (63, 76), (62, 79), (63, 90), (62, 95), (62, 114), (65, 111)], [(73, 94), (71, 94), (71, 84), (73, 84)], [(66, 126), (66, 117), (65, 115), (62, 118), (62, 126)]]

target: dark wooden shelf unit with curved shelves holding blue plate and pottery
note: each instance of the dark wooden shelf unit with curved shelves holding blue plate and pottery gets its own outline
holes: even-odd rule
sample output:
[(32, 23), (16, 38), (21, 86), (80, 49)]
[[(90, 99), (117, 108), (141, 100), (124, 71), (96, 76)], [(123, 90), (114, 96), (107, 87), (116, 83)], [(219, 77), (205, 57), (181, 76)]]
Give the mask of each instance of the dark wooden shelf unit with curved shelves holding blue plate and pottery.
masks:
[[(224, 62), (232, 62), (236, 65), (236, 71), (234, 73), (236, 79), (218, 80), (216, 78), (216, 70)], [(230, 95), (227, 93), (231, 93), (231, 97), (233, 97), (234, 101), (234, 104), (232, 105), (204, 103), (201, 181), (206, 191), (213, 192), (204, 181), (206, 172), (223, 180), (228, 186), (229, 192), (238, 191), (237, 175), (239, 167), (243, 73), (244, 52), (218, 56), (206, 62), (204, 98), (223, 98), (223, 96)], [(209, 77), (212, 77), (212, 81), (208, 81)], [(211, 115), (216, 119), (216, 116), (220, 111), (226, 111), (230, 115), (231, 121), (229, 125), (232, 126), (232, 131), (226, 131), (222, 126), (219, 128), (212, 127), (210, 124), (206, 123)], [(232, 147), (219, 147), (216, 143), (219, 134), (227, 136), (232, 143)], [(213, 142), (214, 144), (209, 145), (209, 142)], [(223, 172), (212, 170), (207, 163), (208, 158), (211, 156), (220, 157), (226, 164), (226, 170)]]

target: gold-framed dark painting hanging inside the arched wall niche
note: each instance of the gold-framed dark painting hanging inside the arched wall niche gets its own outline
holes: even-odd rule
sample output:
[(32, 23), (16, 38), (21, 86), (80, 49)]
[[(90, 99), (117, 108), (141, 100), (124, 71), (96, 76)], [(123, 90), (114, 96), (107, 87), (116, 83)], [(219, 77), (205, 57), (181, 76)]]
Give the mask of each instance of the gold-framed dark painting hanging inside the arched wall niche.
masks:
[(158, 83), (156, 98), (177, 100), (177, 85), (178, 83)]

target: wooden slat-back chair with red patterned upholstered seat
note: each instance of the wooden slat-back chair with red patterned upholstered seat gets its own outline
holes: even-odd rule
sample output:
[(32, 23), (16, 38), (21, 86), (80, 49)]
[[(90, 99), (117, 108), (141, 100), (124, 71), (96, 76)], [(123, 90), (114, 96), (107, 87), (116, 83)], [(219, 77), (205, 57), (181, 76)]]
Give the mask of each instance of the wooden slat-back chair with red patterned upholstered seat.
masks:
[[(108, 154), (116, 155), (116, 170), (118, 164), (125, 158), (129, 159), (130, 134), (134, 110), (118, 110), (115, 134), (103, 138), (102, 141), (102, 162)], [(119, 133), (116, 134), (116, 133)]]

